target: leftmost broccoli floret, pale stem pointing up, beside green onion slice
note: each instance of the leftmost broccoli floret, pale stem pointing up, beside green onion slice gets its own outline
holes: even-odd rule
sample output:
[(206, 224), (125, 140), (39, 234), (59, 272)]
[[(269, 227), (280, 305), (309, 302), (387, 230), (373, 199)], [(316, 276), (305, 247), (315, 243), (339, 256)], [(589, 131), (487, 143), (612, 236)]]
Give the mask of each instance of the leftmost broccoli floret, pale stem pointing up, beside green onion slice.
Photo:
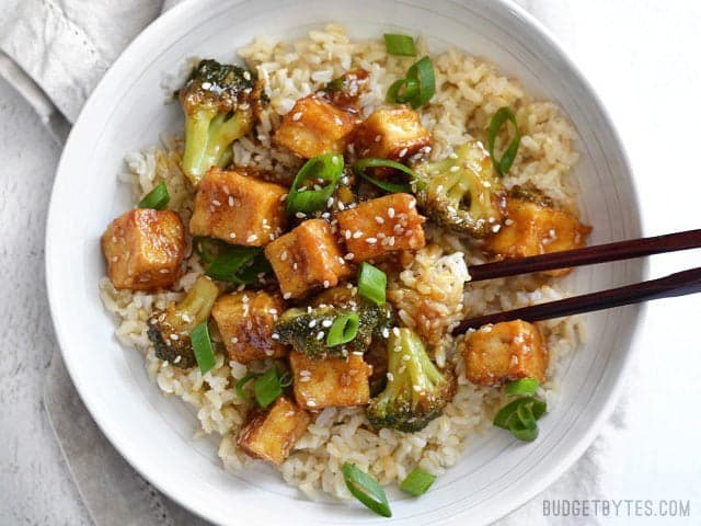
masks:
[(185, 297), (156, 311), (148, 321), (148, 336), (156, 356), (176, 367), (188, 369), (197, 365), (189, 341), (191, 331), (209, 318), (219, 289), (211, 279), (199, 276)]

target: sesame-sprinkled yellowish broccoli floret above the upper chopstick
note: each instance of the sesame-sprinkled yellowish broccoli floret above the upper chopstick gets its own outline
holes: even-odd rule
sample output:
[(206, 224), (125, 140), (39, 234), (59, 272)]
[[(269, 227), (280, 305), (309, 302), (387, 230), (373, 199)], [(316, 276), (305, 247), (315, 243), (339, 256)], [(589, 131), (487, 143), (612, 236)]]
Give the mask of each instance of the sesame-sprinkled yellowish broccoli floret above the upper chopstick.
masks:
[(422, 162), (414, 171), (425, 183), (417, 192), (418, 203), (439, 226), (484, 238), (499, 225), (503, 186), (480, 142), (466, 142), (444, 161)]

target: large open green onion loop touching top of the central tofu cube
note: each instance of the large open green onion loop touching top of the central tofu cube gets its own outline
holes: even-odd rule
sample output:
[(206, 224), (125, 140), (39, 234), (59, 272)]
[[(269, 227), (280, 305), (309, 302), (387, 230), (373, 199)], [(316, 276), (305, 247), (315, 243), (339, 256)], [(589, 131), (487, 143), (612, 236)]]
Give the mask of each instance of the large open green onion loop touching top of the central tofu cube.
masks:
[[(311, 214), (326, 206), (343, 174), (343, 156), (322, 153), (312, 157), (297, 172), (292, 186), (285, 202), (287, 215), (297, 213)], [(324, 182), (324, 186), (314, 190)], [(309, 185), (309, 187), (307, 186)]]

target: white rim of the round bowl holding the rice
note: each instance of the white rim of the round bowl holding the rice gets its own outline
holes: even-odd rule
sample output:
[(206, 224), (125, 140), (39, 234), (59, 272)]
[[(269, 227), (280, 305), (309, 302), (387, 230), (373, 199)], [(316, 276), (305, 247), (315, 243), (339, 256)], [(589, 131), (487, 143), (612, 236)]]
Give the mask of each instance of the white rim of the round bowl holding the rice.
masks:
[[(230, 0), (232, 5), (237, 3), (245, 2), (246, 0)], [(73, 123), (71, 133), (69, 134), (64, 150), (61, 151), (61, 156), (59, 162), (56, 168), (56, 176), (51, 187), (50, 198), (49, 198), (49, 207), (48, 214), (45, 222), (45, 281), (47, 288), (47, 297), (49, 304), (49, 311), (51, 323), (54, 327), (54, 332), (56, 334), (56, 340), (58, 346), (61, 352), (61, 356), (66, 364), (66, 368), (69, 373), (71, 381), (76, 387), (76, 390), (80, 395), (81, 400), (83, 401), (85, 408), (88, 409), (91, 418), (99, 426), (100, 431), (103, 435), (110, 441), (112, 446), (119, 453), (122, 458), (125, 459), (141, 477), (151, 482), (156, 488), (159, 489), (162, 493), (164, 493), (168, 498), (180, 504), (181, 506), (187, 508), (189, 512), (206, 518), (208, 521), (212, 521), (211, 517), (208, 516), (207, 512), (204, 507), (198, 507), (193, 502), (185, 499), (183, 495), (185, 492), (177, 488), (177, 484), (171, 483), (168, 479), (159, 477), (159, 473), (154, 470), (149, 470), (148, 467), (137, 465), (133, 462), (131, 458), (128, 455), (128, 451), (125, 450), (126, 447), (124, 444), (119, 442), (118, 436), (116, 434), (111, 433), (111, 426), (107, 424), (106, 420), (103, 420), (103, 415), (100, 411), (95, 410), (94, 401), (90, 397), (83, 396), (85, 392), (85, 385), (81, 381), (81, 377), (76, 374), (73, 368), (73, 364), (70, 358), (68, 358), (68, 353), (66, 350), (68, 348), (68, 343), (66, 335), (60, 327), (56, 312), (59, 309), (57, 291), (56, 291), (56, 283), (59, 276), (56, 276), (53, 272), (53, 263), (58, 258), (58, 251), (55, 249), (55, 243), (53, 240), (56, 239), (54, 232), (54, 225), (56, 225), (55, 216), (58, 214), (56, 210), (58, 208), (56, 193), (58, 187), (59, 175), (65, 171), (65, 164), (68, 162), (66, 158), (67, 151), (71, 150), (72, 141), (74, 140), (74, 136), (77, 135), (76, 130), (79, 129), (83, 125), (82, 116), (85, 114), (85, 108), (93, 104), (94, 100), (97, 100), (101, 96), (102, 91), (104, 91), (105, 87), (112, 82), (112, 78), (116, 75), (116, 71), (119, 69), (120, 64), (126, 61), (125, 57), (129, 57), (134, 55), (137, 50), (142, 47), (142, 43), (146, 42), (151, 34), (157, 34), (163, 28), (166, 28), (171, 25), (175, 27), (182, 27), (186, 25), (183, 21), (187, 18), (187, 13), (195, 10), (197, 8), (200, 0), (185, 0), (177, 5), (173, 7), (154, 21), (152, 21), (147, 27), (145, 27), (119, 54), (117, 59), (110, 66), (103, 78), (100, 80), (95, 89), (92, 91), (88, 100), (85, 101), (83, 108), (81, 110), (80, 115)], [(457, 2), (460, 3), (460, 2)], [(576, 82), (579, 83), (582, 89), (586, 92), (586, 94), (590, 98), (591, 103), (596, 105), (600, 110), (600, 117), (604, 122), (604, 125), (608, 127), (609, 133), (613, 139), (612, 148), (617, 150), (620, 156), (620, 161), (627, 172), (627, 175), (630, 179), (631, 183), (631, 202), (636, 205), (635, 209), (635, 220), (637, 226), (642, 231), (645, 230), (644, 221), (640, 214), (640, 198), (639, 191), (634, 183), (633, 171), (631, 169), (630, 159), (628, 152), (624, 148), (623, 141), (621, 140), (620, 134), (614, 126), (611, 116), (597, 94), (596, 90), (593, 88), (587, 78), (583, 75), (578, 66), (574, 62), (574, 60), (570, 57), (570, 55), (564, 50), (563, 46), (559, 43), (555, 36), (548, 30), (541, 22), (539, 22), (533, 15), (528, 13), (524, 8), (516, 4), (513, 0), (492, 0), (492, 3), (496, 4), (496, 9), (507, 10), (513, 15), (515, 15), (520, 23), (528, 26), (530, 31), (537, 33), (538, 37), (542, 38), (544, 43), (552, 48), (552, 50), (559, 56), (561, 60), (570, 68), (570, 72), (574, 76)], [(177, 23), (181, 21), (181, 23)], [(648, 262), (645, 260), (642, 262), (641, 272), (644, 278), (648, 276), (650, 266)], [(623, 385), (625, 378), (629, 376), (631, 370), (631, 365), (633, 359), (639, 352), (640, 339), (641, 339), (641, 327), (645, 320), (647, 309), (645, 304), (641, 304), (635, 307), (636, 315), (633, 319), (633, 324), (630, 329), (630, 344), (621, 358), (620, 365), (620, 374), (614, 378), (609, 396), (606, 398), (601, 410), (596, 414), (591, 420), (591, 425), (587, 428), (585, 433), (578, 436), (576, 442), (573, 441), (570, 446), (570, 450), (566, 455), (564, 455), (554, 467), (547, 470), (544, 474), (541, 474), (538, 479), (538, 483), (530, 484), (528, 488), (524, 488), (522, 491), (517, 495), (517, 498), (512, 499), (510, 501), (501, 500), (498, 503), (493, 505), (492, 513), (489, 515), (489, 522), (496, 521), (510, 512), (517, 510), (518, 507), (526, 504), (528, 501), (532, 500), (536, 495), (542, 492), (544, 489), (550, 487), (558, 478), (560, 478), (565, 471), (567, 471), (574, 462), (586, 451), (586, 449), (591, 445), (595, 441), (596, 436), (599, 433), (604, 422), (608, 420), (610, 414), (612, 413), (618, 400), (620, 399)]]

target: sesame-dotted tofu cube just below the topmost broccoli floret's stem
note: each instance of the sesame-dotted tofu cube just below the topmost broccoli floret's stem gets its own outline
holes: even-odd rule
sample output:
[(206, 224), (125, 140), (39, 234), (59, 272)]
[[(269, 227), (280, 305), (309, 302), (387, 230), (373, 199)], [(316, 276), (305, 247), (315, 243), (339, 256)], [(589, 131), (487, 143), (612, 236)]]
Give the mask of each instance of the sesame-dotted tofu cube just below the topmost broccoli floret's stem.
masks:
[(246, 175), (246, 170), (210, 169), (197, 186), (193, 236), (263, 247), (285, 228), (287, 188)]

